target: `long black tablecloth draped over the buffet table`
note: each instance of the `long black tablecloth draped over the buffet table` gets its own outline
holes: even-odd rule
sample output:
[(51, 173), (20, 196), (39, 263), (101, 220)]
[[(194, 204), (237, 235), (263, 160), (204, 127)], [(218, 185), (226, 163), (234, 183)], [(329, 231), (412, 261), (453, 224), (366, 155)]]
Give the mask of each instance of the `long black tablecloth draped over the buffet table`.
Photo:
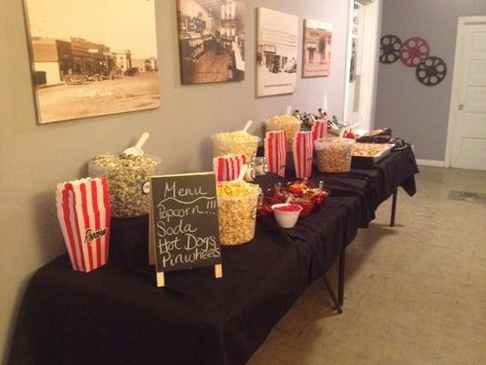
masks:
[(64, 255), (30, 280), (9, 364), (243, 364), (373, 207), (398, 185), (415, 192), (416, 172), (401, 151), (370, 171), (315, 176), (333, 195), (294, 229), (261, 219), (251, 243), (222, 247), (221, 279), (212, 267), (171, 272), (165, 288), (146, 264), (147, 217), (113, 220), (109, 265), (77, 273)]

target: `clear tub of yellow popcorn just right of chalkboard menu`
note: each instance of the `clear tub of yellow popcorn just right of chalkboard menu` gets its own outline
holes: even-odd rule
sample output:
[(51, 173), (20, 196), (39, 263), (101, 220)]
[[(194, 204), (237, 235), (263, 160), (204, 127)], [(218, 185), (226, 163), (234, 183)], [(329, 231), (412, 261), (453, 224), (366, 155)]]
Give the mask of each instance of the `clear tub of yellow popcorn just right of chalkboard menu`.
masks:
[(243, 245), (253, 240), (261, 192), (253, 183), (217, 184), (221, 245)]

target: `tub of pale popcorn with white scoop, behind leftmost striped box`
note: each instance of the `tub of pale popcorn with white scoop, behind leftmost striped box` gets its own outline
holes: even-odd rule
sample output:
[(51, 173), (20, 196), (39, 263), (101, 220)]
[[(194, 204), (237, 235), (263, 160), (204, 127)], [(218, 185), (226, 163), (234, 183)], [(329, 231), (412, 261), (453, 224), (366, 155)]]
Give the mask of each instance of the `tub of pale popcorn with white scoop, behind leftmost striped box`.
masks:
[(160, 157), (104, 154), (88, 162), (91, 177), (106, 176), (114, 218), (133, 218), (150, 212), (150, 177), (160, 168)]

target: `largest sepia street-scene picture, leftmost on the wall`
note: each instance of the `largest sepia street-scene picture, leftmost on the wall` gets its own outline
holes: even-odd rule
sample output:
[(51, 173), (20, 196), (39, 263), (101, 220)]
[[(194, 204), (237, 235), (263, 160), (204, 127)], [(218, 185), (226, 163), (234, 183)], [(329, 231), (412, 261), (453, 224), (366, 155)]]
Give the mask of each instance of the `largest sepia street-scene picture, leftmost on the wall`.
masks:
[(155, 0), (24, 0), (40, 124), (160, 107)]

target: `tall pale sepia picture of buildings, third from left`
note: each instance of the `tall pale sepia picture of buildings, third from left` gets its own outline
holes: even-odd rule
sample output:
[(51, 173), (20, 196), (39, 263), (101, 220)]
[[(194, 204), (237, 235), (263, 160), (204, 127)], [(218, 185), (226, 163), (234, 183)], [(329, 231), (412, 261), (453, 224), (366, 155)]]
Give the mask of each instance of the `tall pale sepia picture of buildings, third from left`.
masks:
[(258, 8), (256, 95), (290, 94), (297, 83), (297, 16)]

